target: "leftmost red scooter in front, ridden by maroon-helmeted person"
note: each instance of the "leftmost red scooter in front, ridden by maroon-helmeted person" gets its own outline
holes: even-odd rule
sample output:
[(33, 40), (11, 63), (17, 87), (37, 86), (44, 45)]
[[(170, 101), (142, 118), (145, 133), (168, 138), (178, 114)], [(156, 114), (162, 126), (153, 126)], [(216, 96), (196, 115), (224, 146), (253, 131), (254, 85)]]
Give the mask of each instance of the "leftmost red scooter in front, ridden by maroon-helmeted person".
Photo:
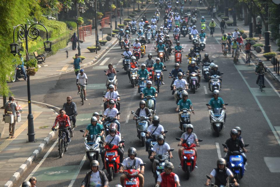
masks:
[[(121, 140), (119, 144), (124, 143), (124, 140)], [(99, 143), (104, 144), (102, 141), (99, 141)], [(120, 166), (118, 165), (120, 163), (120, 155), (118, 155), (117, 149), (119, 146), (116, 146), (114, 144), (105, 145), (105, 168), (108, 173), (108, 180), (112, 181), (114, 178), (114, 173), (119, 172)]]

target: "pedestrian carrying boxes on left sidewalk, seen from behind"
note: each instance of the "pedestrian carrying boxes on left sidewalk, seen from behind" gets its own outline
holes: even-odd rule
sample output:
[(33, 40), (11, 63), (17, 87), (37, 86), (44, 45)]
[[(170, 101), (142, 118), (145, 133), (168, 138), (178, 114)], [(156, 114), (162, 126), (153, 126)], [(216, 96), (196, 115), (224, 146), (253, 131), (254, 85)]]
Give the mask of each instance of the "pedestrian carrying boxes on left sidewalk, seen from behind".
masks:
[(5, 114), (7, 112), (12, 112), (13, 115), (14, 115), (14, 122), (13, 123), (10, 123), (9, 125), (9, 136), (11, 136), (11, 138), (14, 138), (14, 133), (15, 133), (15, 125), (17, 123), (17, 112), (18, 112), (18, 106), (17, 106), (17, 103), (14, 102), (14, 97), (13, 96), (10, 96), (9, 97), (9, 101), (7, 103), (5, 103)]

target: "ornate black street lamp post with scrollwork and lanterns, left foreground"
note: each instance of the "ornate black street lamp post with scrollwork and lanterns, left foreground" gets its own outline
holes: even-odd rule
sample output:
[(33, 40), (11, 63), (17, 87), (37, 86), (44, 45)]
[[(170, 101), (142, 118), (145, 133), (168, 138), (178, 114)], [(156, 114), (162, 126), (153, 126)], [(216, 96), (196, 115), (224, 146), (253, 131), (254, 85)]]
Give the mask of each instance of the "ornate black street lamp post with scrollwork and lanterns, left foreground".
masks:
[[(14, 32), (13, 32), (13, 43), (10, 44), (10, 49), (11, 49), (11, 53), (15, 56), (17, 53), (19, 53), (20, 51), (23, 51), (22, 49), (22, 42), (20, 40), (25, 40), (25, 51), (26, 51), (26, 61), (29, 60), (28, 57), (28, 37), (36, 40), (40, 34), (40, 30), (38, 30), (36, 27), (34, 27), (34, 25), (41, 25), (46, 29), (46, 34), (47, 34), (47, 41), (44, 41), (44, 47), (45, 47), (45, 51), (48, 53), (50, 52), (52, 49), (52, 42), (48, 41), (49, 37), (48, 37), (48, 30), (47, 28), (42, 25), (41, 23), (34, 23), (32, 24), (29, 28), (27, 28), (27, 24), (22, 25), (19, 24), (17, 26), (14, 27)], [(18, 41), (17, 43), (15, 43), (15, 31), (18, 29), (17, 31), (17, 38)], [(29, 34), (30, 33), (30, 34)], [(34, 132), (34, 122), (33, 122), (33, 114), (31, 111), (31, 92), (30, 92), (30, 76), (27, 75), (27, 97), (28, 97), (28, 142), (35, 142), (35, 132)]]

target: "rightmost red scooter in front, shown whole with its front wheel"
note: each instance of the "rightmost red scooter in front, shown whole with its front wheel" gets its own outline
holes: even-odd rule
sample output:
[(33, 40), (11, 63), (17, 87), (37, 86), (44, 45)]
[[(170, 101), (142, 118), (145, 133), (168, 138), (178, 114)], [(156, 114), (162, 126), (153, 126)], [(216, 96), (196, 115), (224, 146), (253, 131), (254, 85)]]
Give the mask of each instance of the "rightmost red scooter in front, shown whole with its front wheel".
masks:
[[(176, 138), (176, 140), (181, 141), (180, 138)], [(198, 139), (198, 141), (202, 141), (202, 139)], [(182, 146), (183, 154), (180, 158), (182, 170), (186, 173), (186, 179), (190, 178), (190, 173), (195, 169), (196, 159), (195, 149), (196, 146), (194, 143), (190, 143), (189, 141), (183, 140)]]

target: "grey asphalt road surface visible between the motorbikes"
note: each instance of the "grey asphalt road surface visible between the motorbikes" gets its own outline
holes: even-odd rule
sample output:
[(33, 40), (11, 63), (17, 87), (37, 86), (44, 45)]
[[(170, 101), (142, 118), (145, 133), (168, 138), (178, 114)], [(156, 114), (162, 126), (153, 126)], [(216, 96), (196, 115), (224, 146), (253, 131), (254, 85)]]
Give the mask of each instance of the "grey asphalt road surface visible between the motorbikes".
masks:
[[(185, 6), (191, 9), (198, 8), (197, 1), (193, 1), (192, 5), (188, 4)], [(206, 20), (210, 20), (208, 14), (205, 11), (205, 7), (199, 7), (201, 15), (206, 17)], [(156, 8), (152, 5), (146, 12), (147, 18), (150, 19)], [(161, 21), (158, 26), (163, 25), (162, 16), (164, 10), (161, 12)], [(208, 25), (208, 24), (207, 24)], [(200, 25), (197, 24), (197, 30), (200, 30)], [(220, 137), (215, 137), (209, 122), (209, 114), (205, 103), (208, 103), (212, 97), (210, 91), (208, 91), (208, 84), (202, 78), (201, 87), (197, 89), (196, 93), (189, 92), (189, 99), (192, 101), (195, 115), (191, 115), (191, 123), (194, 126), (194, 132), (198, 138), (202, 138), (201, 146), (197, 148), (198, 168), (195, 169), (190, 176), (189, 180), (184, 177), (184, 172), (178, 168), (178, 147), (175, 137), (181, 136), (181, 131), (178, 129), (178, 113), (175, 112), (176, 103), (174, 97), (171, 95), (170, 87), (171, 79), (168, 79), (168, 72), (174, 68), (174, 56), (171, 55), (165, 65), (168, 71), (164, 72), (165, 85), (160, 87), (160, 93), (158, 94), (157, 100), (157, 115), (160, 117), (160, 124), (163, 125), (164, 129), (168, 130), (166, 134), (166, 142), (169, 143), (171, 148), (175, 148), (173, 155), (174, 158), (171, 162), (174, 163), (174, 172), (178, 174), (181, 180), (181, 186), (203, 186), (206, 181), (206, 174), (209, 174), (211, 170), (216, 167), (216, 160), (218, 159), (218, 153), (222, 152), (222, 145), (227, 138), (229, 138), (229, 131), (239, 126), (242, 129), (242, 137), (245, 143), (249, 143), (249, 152), (246, 154), (248, 159), (247, 170), (245, 171), (244, 177), (241, 180), (241, 186), (278, 186), (280, 175), (277, 172), (270, 172), (273, 163), (267, 165), (264, 157), (280, 157), (279, 150), (279, 134), (275, 131), (279, 126), (279, 115), (278, 115), (278, 103), (280, 101), (279, 84), (272, 80), (271, 77), (266, 76), (271, 85), (265, 80), (266, 88), (263, 92), (260, 92), (257, 85), (255, 84), (256, 75), (254, 74), (254, 66), (244, 64), (244, 55), (241, 53), (239, 64), (233, 65), (232, 58), (229, 56), (224, 58), (221, 52), (221, 46), (217, 40), (220, 41), (221, 34), (219, 29), (215, 30), (214, 37), (208, 37), (206, 40), (206, 49), (201, 53), (209, 53), (211, 60), (219, 65), (219, 70), (224, 73), (223, 75), (223, 90), (220, 91), (220, 97), (226, 103), (227, 106), (227, 120), (224, 129), (221, 131)], [(226, 32), (233, 32), (233, 29), (227, 29)], [(207, 28), (206, 34), (209, 34)], [(170, 34), (172, 38), (172, 32)], [(135, 37), (135, 35), (133, 35)], [(135, 39), (132, 39), (134, 41)], [(174, 41), (174, 40), (173, 40)], [(188, 37), (180, 39), (181, 45), (185, 48), (183, 52), (183, 63), (181, 68), (186, 71), (186, 57), (189, 49), (192, 47)], [(156, 57), (154, 52), (155, 44), (148, 44), (147, 53), (152, 53)], [(120, 70), (118, 75), (118, 92), (121, 95), (121, 133), (122, 139), (125, 140), (125, 157), (127, 156), (127, 149), (129, 147), (135, 147), (137, 149), (137, 157), (140, 157), (143, 162), (147, 163), (145, 166), (145, 185), (154, 186), (154, 179), (151, 172), (151, 163), (148, 160), (145, 148), (141, 147), (139, 139), (136, 137), (135, 122), (132, 120), (130, 115), (131, 110), (136, 110), (139, 106), (139, 94), (137, 88), (132, 88), (132, 85), (128, 82), (128, 77), (124, 70), (121, 69), (121, 55), (123, 50), (117, 45), (113, 46), (112, 49), (108, 50), (106, 56), (101, 57), (101, 60), (96, 65), (85, 68), (85, 73), (88, 76), (87, 86), (87, 98), (84, 105), (81, 105), (81, 100), (77, 93), (76, 78), (73, 72), (63, 74), (58, 77), (51, 77), (46, 79), (32, 80), (31, 82), (31, 99), (33, 101), (39, 101), (61, 107), (66, 102), (67, 96), (72, 96), (73, 101), (76, 102), (78, 107), (77, 125), (78, 128), (75, 131), (74, 137), (69, 144), (69, 150), (65, 153), (62, 158), (59, 158), (58, 145), (56, 144), (50, 154), (46, 157), (46, 160), (41, 163), (35, 172), (34, 176), (38, 179), (37, 186), (71, 186), (70, 182), (73, 180), (72, 186), (80, 186), (86, 172), (89, 171), (89, 161), (85, 160), (83, 163), (84, 144), (83, 134), (78, 132), (79, 129), (85, 129), (86, 124), (90, 123), (89, 119), (93, 112), (100, 112), (102, 107), (102, 95), (105, 91), (105, 81), (103, 70), (107, 69), (108, 63), (113, 63), (117, 70)], [(174, 54), (174, 53), (173, 53)], [(108, 60), (104, 65), (99, 65), (105, 58)], [(141, 64), (146, 60), (140, 59)], [(11, 91), (15, 94), (16, 98), (27, 98), (26, 86), (24, 82), (15, 82), (9, 84)], [(274, 86), (275, 90), (271, 87)], [(204, 91), (204, 86), (207, 90)], [(275, 128), (275, 129), (274, 129)], [(278, 127), (279, 128), (279, 127)], [(279, 133), (279, 132), (278, 132)], [(278, 141), (276, 139), (278, 138)], [(55, 142), (55, 140), (53, 140)], [(216, 143), (220, 146), (220, 149), (216, 147)], [(50, 144), (51, 146), (52, 144)], [(50, 148), (48, 146), (48, 148)], [(48, 149), (45, 150), (46, 153)], [(218, 151), (218, 153), (217, 153)], [(41, 154), (41, 158), (44, 154)], [(17, 183), (20, 183), (32, 172), (32, 170), (40, 162), (41, 158), (38, 158), (32, 167), (25, 172), (25, 177)], [(268, 158), (269, 159), (269, 158)], [(101, 160), (99, 158), (101, 163)], [(279, 162), (278, 162), (279, 165)], [(80, 168), (81, 166), (81, 168)], [(102, 164), (101, 164), (102, 167)], [(278, 167), (279, 168), (279, 167)], [(81, 169), (79, 171), (79, 169)], [(278, 169), (279, 170), (279, 169)], [(279, 171), (278, 171), (279, 172)], [(116, 174), (113, 181), (109, 183), (110, 186), (120, 183), (120, 174)], [(265, 184), (262, 184), (265, 183)], [(69, 185), (70, 184), (70, 185)]]

